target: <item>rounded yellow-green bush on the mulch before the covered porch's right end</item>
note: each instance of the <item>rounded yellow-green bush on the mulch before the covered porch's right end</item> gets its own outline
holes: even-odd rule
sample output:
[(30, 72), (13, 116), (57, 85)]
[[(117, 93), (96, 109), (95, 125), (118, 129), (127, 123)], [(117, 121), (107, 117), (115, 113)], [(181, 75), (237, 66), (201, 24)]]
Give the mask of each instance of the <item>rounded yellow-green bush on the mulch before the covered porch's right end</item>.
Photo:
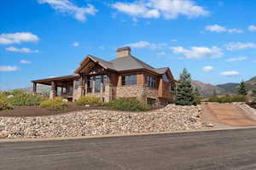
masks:
[(44, 100), (40, 104), (40, 107), (50, 111), (62, 111), (67, 109), (67, 102), (63, 101), (62, 98), (57, 97), (54, 99)]

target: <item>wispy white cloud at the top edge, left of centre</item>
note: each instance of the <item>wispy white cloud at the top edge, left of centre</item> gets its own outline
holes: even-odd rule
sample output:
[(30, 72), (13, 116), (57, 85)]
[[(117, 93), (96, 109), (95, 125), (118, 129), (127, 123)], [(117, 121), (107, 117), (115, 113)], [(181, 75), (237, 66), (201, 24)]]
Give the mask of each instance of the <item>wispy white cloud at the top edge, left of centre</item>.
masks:
[(78, 7), (69, 0), (38, 0), (38, 3), (48, 3), (51, 8), (63, 14), (71, 14), (76, 20), (86, 20), (86, 14), (95, 15), (97, 9), (87, 4), (87, 7)]

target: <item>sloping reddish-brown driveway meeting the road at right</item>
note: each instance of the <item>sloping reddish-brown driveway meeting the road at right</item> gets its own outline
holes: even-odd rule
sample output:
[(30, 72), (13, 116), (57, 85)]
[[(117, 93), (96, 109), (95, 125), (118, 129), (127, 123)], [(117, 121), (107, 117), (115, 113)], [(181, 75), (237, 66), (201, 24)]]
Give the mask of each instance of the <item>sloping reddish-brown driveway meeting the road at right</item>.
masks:
[(205, 105), (205, 112), (208, 122), (219, 122), (232, 127), (256, 126), (256, 121), (247, 116), (237, 105), (208, 104)]

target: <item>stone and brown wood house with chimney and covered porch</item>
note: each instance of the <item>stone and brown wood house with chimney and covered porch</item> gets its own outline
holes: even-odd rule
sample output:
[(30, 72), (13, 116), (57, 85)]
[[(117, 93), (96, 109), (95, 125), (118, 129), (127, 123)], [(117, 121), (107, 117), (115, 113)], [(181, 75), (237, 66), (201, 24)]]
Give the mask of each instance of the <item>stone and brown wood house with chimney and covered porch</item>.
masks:
[(166, 105), (174, 97), (175, 80), (168, 67), (154, 68), (131, 55), (131, 48), (118, 48), (116, 59), (105, 61), (87, 55), (74, 75), (34, 80), (51, 86), (50, 98), (61, 95), (77, 100), (94, 95), (104, 102), (118, 98), (137, 98), (148, 104)]

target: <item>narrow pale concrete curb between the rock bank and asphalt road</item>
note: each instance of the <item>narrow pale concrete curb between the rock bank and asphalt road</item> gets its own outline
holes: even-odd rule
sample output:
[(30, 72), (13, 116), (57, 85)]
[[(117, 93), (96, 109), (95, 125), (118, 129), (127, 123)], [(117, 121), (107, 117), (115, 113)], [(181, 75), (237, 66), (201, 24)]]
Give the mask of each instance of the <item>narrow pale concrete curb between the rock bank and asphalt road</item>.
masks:
[(112, 137), (129, 137), (129, 136), (147, 136), (147, 135), (158, 135), (158, 134), (178, 134), (178, 133), (207, 133), (207, 132), (218, 132), (228, 130), (239, 130), (239, 129), (256, 129), (254, 127), (227, 127), (227, 128), (211, 128), (211, 129), (195, 129), (195, 130), (182, 130), (173, 132), (160, 132), (160, 133), (132, 133), (132, 134), (112, 134), (112, 135), (96, 135), (96, 136), (81, 136), (81, 137), (56, 137), (56, 138), (45, 138), (45, 139), (0, 139), (1, 143), (15, 143), (15, 142), (43, 142), (43, 141), (58, 141), (58, 140), (72, 140), (72, 139), (103, 139)]

